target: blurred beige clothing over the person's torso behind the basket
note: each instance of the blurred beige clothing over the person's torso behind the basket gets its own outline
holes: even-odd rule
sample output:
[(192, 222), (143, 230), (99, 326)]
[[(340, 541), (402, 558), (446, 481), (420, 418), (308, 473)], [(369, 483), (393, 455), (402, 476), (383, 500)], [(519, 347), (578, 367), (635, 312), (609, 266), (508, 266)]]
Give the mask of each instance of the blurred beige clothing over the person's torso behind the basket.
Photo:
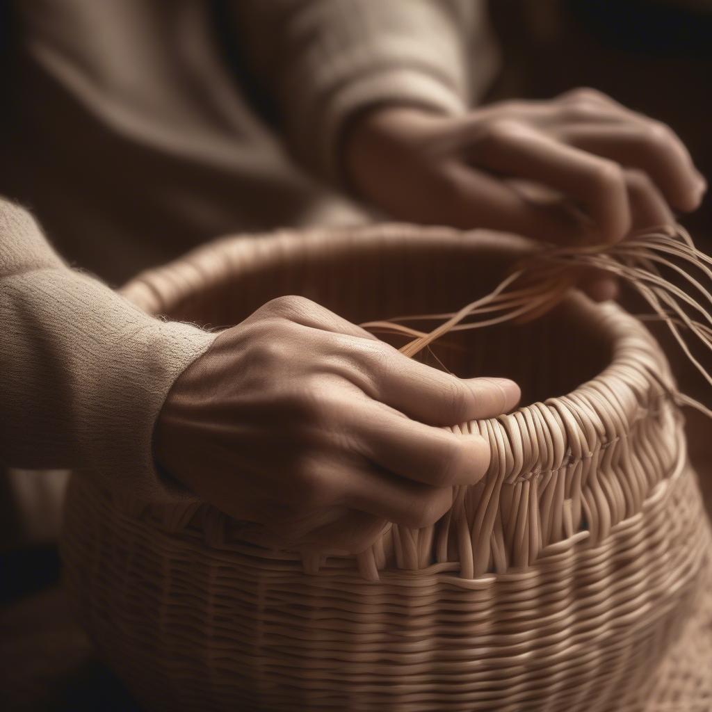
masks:
[(219, 234), (365, 219), (290, 161), (226, 61), (212, 9), (14, 6), (0, 192), (112, 283)]

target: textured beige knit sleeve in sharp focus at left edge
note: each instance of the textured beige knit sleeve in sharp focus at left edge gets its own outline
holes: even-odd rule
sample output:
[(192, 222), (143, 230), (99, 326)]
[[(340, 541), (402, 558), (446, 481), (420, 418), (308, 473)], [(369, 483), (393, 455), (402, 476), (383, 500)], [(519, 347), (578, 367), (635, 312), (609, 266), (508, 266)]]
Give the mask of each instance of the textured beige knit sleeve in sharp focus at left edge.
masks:
[(215, 335), (151, 318), (68, 268), (2, 200), (0, 324), (0, 465), (86, 469), (142, 499), (191, 497), (157, 473), (152, 429)]

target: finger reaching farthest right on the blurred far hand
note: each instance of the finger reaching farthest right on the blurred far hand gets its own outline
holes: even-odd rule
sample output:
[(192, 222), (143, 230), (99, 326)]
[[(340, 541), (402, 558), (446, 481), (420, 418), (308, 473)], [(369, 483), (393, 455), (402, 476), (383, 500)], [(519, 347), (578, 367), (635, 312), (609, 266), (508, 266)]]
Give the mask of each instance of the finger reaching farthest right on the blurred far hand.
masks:
[(679, 210), (694, 210), (700, 204), (706, 184), (684, 145), (662, 124), (585, 123), (560, 127), (557, 135), (581, 150), (644, 172), (664, 199)]

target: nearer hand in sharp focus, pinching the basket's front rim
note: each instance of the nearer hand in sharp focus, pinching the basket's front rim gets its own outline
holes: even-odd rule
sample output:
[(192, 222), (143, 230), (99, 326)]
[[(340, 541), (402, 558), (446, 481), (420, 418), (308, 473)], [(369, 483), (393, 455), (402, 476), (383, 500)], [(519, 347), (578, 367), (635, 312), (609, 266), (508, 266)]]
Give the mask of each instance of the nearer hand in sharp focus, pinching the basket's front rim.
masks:
[(441, 426), (512, 409), (519, 389), (415, 362), (320, 305), (282, 297), (221, 333), (157, 419), (157, 464), (246, 525), (302, 550), (365, 550), (388, 521), (436, 522), (490, 453)]

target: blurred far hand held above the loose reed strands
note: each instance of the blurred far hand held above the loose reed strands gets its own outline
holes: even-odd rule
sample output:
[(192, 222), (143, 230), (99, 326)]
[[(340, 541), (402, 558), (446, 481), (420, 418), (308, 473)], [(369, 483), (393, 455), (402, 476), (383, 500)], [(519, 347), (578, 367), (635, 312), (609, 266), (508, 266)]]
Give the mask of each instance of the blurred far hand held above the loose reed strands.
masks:
[(592, 89), (462, 117), (374, 108), (347, 130), (343, 168), (357, 195), (398, 219), (555, 244), (671, 224), (706, 190), (669, 127)]

